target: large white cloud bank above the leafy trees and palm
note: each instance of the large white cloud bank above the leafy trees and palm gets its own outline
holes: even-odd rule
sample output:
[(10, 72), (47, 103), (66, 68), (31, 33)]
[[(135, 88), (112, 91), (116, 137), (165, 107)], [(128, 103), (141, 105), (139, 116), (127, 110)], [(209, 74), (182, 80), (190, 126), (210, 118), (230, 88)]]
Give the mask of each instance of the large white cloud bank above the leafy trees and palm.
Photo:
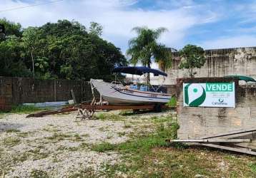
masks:
[[(35, 1), (41, 3), (43, 1)], [(179, 1), (175, 1), (177, 4)], [(170, 10), (144, 10), (133, 8), (136, 0), (64, 0), (53, 4), (34, 6), (27, 9), (6, 11), (0, 13), (0, 18), (21, 23), (22, 26), (41, 26), (46, 22), (56, 22), (58, 19), (76, 20), (89, 26), (90, 21), (97, 21), (104, 26), (103, 38), (112, 41), (124, 52), (129, 38), (134, 36), (131, 29), (134, 26), (149, 28), (166, 27), (169, 29), (161, 38), (161, 42), (180, 48), (184, 45), (184, 36), (192, 26), (217, 20), (217, 14), (212, 11), (202, 11), (202, 6), (193, 6), (192, 1)], [(171, 2), (170, 2), (171, 3)], [(172, 1), (173, 3), (173, 1)], [(10, 0), (1, 0), (1, 10), (11, 9), (29, 4)], [(187, 8), (189, 6), (189, 8)], [(164, 8), (163, 8), (164, 9)], [(200, 10), (201, 9), (201, 10)], [(197, 13), (200, 11), (200, 14)]]

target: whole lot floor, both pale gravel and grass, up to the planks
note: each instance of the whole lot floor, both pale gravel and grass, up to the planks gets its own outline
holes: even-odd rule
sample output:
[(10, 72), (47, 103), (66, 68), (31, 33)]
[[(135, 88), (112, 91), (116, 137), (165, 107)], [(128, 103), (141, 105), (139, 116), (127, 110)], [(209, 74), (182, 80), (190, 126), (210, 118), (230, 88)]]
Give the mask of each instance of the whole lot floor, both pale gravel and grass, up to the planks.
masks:
[(166, 145), (176, 137), (175, 112), (76, 112), (26, 118), (0, 115), (4, 177), (256, 177), (256, 158)]

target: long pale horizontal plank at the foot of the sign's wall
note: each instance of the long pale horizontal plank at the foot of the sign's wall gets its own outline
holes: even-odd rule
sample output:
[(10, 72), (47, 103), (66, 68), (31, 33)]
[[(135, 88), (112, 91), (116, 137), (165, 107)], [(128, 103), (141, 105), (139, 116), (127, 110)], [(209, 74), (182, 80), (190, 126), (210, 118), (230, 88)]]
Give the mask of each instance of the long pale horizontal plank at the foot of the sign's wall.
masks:
[(201, 139), (201, 140), (169, 140), (169, 142), (204, 142), (204, 143), (212, 143), (212, 142), (226, 142), (226, 143), (233, 143), (233, 142), (251, 142), (250, 139)]

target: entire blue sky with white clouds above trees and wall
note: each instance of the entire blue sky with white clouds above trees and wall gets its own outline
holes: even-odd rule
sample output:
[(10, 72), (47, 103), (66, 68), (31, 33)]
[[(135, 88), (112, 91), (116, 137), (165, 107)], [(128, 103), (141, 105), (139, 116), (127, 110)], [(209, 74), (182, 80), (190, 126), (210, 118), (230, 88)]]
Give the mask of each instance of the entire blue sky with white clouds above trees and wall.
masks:
[[(205, 49), (256, 46), (254, 0), (1, 0), (0, 18), (28, 26), (59, 19), (91, 21), (104, 27), (102, 38), (128, 48), (135, 26), (168, 29), (159, 43), (177, 50), (186, 44)], [(24, 9), (15, 9), (34, 4)]]

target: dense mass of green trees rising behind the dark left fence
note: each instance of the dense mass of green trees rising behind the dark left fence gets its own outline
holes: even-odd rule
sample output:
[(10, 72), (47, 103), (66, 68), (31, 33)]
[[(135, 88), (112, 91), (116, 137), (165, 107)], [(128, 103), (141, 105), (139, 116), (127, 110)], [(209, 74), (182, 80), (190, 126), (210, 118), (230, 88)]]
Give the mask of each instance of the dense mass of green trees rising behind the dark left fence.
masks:
[(111, 80), (112, 68), (127, 64), (120, 49), (100, 37), (99, 23), (92, 22), (88, 30), (67, 20), (28, 28), (6, 19), (0, 23), (7, 36), (0, 40), (0, 75)]

